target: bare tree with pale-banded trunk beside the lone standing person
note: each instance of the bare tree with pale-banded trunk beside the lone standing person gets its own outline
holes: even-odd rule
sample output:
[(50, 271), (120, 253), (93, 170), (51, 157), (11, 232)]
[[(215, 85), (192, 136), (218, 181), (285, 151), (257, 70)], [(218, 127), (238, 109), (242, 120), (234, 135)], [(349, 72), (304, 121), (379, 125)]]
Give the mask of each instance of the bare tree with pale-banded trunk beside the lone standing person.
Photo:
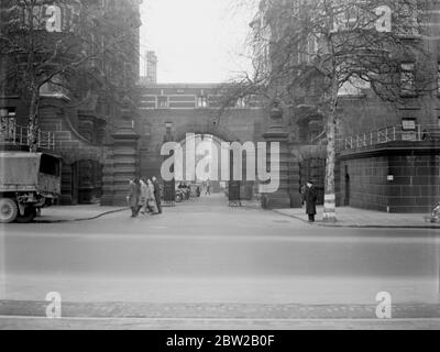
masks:
[[(254, 72), (242, 91), (258, 87), (295, 106), (314, 82), (326, 119), (324, 220), (336, 221), (336, 139), (341, 89), (372, 89), (381, 99), (432, 89), (419, 0), (263, 0), (252, 23)], [(417, 79), (416, 79), (417, 77)], [(244, 82), (244, 84), (243, 84)]]

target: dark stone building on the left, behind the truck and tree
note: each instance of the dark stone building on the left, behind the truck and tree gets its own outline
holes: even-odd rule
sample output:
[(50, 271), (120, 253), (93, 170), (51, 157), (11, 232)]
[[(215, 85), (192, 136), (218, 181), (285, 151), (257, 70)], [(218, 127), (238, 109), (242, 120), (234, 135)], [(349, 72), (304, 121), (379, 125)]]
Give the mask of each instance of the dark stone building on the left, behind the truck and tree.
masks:
[[(40, 90), (40, 129), (53, 133), (54, 152), (63, 157), (62, 204), (98, 202), (103, 194), (106, 194), (106, 204), (113, 204), (114, 185), (112, 180), (106, 180), (105, 173), (109, 170), (103, 167), (112, 160), (114, 143), (123, 133), (121, 129), (131, 127), (131, 120), (134, 120), (136, 114), (132, 101), (134, 101), (134, 87), (139, 80), (140, 70), (141, 2), (140, 0), (81, 2), (87, 6), (87, 13), (90, 16), (97, 13), (99, 15), (119, 13), (127, 14), (131, 19), (130, 23), (122, 24), (127, 34), (121, 44), (123, 47), (120, 45), (118, 51), (106, 50), (112, 41), (111, 33), (105, 28), (97, 26), (96, 32), (87, 33), (86, 45), (82, 46), (81, 52), (81, 55), (92, 57), (88, 59), (87, 72), (95, 75), (94, 79), (89, 79), (86, 75), (75, 81), (76, 86), (70, 85), (69, 89), (51, 82)], [(64, 8), (63, 4), (59, 7), (58, 20), (63, 23), (63, 30), (59, 33), (41, 31), (41, 35), (47, 41), (54, 35), (67, 35), (64, 26), (66, 15), (72, 12), (72, 9)], [(44, 8), (42, 11), (44, 13), (48, 10)], [(77, 53), (79, 55), (79, 52)], [(76, 59), (74, 52), (69, 52), (69, 55), (66, 59)], [(13, 72), (12, 63), (16, 57), (2, 55), (1, 59), (2, 75), (9, 75)], [(99, 78), (96, 79), (96, 77)], [(8, 120), (9, 124), (16, 127), (28, 125), (29, 100), (19, 91), (2, 86), (0, 108), (3, 111), (2, 124)], [(15, 142), (12, 144), (16, 144)], [(10, 144), (2, 143), (6, 147), (11, 147)]]

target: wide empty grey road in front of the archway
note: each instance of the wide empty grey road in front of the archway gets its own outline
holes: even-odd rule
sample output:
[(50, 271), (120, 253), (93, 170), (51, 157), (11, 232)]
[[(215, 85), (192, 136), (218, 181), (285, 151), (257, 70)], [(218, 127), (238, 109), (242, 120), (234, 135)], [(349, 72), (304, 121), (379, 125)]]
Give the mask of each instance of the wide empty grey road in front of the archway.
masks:
[(374, 318), (380, 292), (428, 315), (440, 300), (437, 230), (316, 227), (219, 195), (3, 230), (0, 314), (43, 315), (50, 292), (73, 317), (106, 318)]

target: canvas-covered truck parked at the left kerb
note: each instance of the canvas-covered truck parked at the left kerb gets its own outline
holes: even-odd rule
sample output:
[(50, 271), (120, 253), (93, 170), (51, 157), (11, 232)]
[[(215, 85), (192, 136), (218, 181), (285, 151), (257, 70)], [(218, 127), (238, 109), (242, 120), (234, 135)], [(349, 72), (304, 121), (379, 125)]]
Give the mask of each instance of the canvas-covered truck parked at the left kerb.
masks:
[(0, 223), (28, 223), (61, 196), (62, 158), (0, 151)]

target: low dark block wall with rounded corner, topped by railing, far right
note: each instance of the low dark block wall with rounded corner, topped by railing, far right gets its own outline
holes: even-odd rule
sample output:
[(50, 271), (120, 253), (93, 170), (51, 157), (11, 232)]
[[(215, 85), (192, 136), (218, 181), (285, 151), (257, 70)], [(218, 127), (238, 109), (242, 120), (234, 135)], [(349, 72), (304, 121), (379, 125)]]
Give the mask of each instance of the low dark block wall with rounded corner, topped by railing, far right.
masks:
[(344, 206), (426, 213), (440, 201), (440, 147), (433, 142), (345, 152), (339, 170)]

